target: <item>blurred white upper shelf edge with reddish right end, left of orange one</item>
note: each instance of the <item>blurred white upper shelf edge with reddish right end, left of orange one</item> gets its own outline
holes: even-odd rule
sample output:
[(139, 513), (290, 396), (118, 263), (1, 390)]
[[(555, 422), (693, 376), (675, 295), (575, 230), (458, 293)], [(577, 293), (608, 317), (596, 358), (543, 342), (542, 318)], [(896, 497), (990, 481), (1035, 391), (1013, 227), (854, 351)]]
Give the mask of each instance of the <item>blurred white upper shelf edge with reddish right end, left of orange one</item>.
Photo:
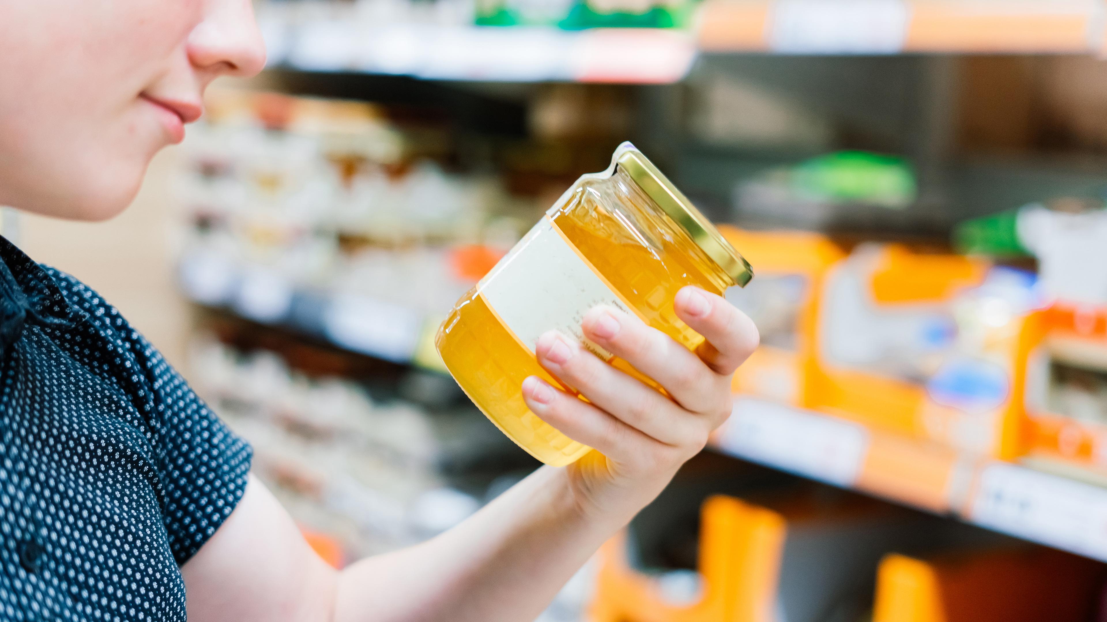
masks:
[(683, 79), (696, 56), (689, 33), (661, 29), (268, 20), (262, 30), (270, 66), (427, 80), (665, 84)]

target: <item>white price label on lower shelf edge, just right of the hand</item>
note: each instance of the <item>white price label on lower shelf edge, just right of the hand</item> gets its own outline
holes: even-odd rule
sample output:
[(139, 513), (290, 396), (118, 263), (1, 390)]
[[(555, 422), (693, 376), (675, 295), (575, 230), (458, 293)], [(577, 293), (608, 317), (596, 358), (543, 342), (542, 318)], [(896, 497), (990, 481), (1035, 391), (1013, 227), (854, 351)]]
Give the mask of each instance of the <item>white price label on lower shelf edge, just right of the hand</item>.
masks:
[(852, 486), (869, 446), (863, 426), (799, 408), (741, 397), (720, 448), (799, 475)]

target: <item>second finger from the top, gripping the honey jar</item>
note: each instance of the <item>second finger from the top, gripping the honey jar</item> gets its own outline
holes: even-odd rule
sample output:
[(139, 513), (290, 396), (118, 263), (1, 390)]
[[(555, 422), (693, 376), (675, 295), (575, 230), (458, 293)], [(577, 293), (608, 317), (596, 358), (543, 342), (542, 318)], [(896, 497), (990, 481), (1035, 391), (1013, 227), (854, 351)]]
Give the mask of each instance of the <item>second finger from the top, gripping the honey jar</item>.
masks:
[(707, 413), (721, 407), (720, 394), (730, 381), (665, 333), (610, 307), (589, 311), (582, 325), (590, 340), (665, 387), (684, 408)]

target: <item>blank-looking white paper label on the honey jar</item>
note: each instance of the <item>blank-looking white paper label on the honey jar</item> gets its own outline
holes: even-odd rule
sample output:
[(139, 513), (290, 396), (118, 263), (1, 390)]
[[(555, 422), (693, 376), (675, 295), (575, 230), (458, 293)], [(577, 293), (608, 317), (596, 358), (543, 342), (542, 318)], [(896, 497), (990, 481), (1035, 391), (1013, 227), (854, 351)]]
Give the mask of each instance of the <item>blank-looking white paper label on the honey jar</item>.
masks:
[(580, 322), (599, 304), (632, 313), (549, 218), (535, 225), (480, 281), (480, 294), (531, 352), (542, 333), (558, 330), (610, 359), (610, 353), (584, 340)]

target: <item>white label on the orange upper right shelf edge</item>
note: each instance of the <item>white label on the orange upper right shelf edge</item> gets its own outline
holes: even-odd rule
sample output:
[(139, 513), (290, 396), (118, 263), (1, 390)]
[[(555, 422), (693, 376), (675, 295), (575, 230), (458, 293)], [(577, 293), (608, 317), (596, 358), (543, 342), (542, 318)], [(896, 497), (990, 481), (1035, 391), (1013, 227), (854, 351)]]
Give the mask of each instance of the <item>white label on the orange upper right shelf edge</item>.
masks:
[(790, 54), (894, 54), (909, 17), (903, 0), (778, 0), (769, 45)]

